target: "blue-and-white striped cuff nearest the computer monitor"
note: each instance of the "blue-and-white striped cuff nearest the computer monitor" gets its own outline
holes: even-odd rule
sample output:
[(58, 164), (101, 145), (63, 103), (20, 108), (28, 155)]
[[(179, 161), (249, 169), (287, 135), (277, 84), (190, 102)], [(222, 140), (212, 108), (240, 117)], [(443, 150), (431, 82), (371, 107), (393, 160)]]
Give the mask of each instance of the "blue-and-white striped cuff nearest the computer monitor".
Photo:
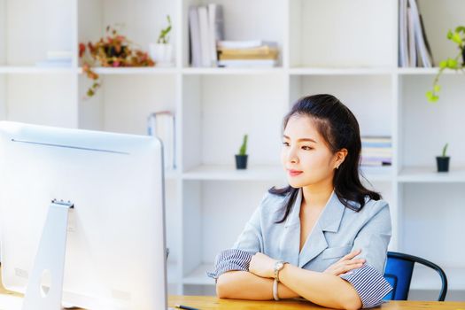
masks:
[(221, 251), (215, 259), (214, 270), (206, 272), (206, 275), (213, 279), (218, 279), (221, 274), (232, 270), (249, 271), (252, 260), (252, 253), (238, 249), (228, 249)]

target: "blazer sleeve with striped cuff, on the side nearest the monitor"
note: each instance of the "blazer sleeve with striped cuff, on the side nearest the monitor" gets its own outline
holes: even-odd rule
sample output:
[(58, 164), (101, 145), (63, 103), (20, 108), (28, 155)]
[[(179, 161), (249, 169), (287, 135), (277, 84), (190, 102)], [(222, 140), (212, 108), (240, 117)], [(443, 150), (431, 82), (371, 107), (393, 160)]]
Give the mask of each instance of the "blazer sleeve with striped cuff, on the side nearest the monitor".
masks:
[(206, 275), (216, 280), (221, 274), (228, 271), (249, 270), (252, 255), (256, 252), (263, 252), (260, 212), (266, 198), (267, 195), (261, 199), (259, 207), (253, 212), (251, 219), (245, 224), (243, 231), (237, 237), (232, 248), (221, 251), (216, 256), (213, 271), (207, 272)]

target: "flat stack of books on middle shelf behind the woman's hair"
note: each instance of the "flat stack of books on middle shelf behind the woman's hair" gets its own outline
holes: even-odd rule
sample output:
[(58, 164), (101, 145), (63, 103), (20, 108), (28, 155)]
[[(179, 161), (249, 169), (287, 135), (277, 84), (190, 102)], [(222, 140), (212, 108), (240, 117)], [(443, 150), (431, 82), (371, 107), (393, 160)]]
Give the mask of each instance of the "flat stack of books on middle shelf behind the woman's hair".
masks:
[(361, 166), (391, 166), (392, 143), (390, 136), (361, 137)]

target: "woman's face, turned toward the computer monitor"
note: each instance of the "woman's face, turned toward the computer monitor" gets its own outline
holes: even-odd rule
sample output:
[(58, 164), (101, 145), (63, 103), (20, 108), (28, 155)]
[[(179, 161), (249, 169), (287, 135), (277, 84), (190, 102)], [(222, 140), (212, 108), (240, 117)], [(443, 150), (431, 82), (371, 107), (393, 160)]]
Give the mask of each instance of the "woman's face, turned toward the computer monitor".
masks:
[(294, 115), (283, 133), (281, 159), (289, 184), (301, 188), (320, 182), (332, 183), (334, 169), (340, 164), (323, 137), (314, 127), (314, 120)]

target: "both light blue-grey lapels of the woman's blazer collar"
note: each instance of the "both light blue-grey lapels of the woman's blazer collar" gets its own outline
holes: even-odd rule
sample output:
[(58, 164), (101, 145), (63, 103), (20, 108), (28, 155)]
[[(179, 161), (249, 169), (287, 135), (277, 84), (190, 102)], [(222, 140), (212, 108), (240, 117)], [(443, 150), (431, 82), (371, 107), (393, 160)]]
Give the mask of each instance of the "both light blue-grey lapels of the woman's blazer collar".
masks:
[[(345, 211), (345, 205), (339, 201), (333, 190), (320, 214), (320, 218), (316, 221), (310, 235), (307, 236), (302, 251), (298, 252), (300, 244), (299, 213), (300, 205), (302, 204), (302, 195), (302, 189), (299, 189), (296, 201), (292, 205), (291, 213), (284, 225), (286, 232), (283, 234), (283, 244), (287, 245), (285, 249), (287, 250), (287, 255), (283, 255), (283, 258), (287, 259), (291, 264), (298, 265), (298, 267), (305, 266), (328, 247), (323, 232), (337, 232)], [(294, 258), (298, 258), (298, 260), (296, 261)]]

